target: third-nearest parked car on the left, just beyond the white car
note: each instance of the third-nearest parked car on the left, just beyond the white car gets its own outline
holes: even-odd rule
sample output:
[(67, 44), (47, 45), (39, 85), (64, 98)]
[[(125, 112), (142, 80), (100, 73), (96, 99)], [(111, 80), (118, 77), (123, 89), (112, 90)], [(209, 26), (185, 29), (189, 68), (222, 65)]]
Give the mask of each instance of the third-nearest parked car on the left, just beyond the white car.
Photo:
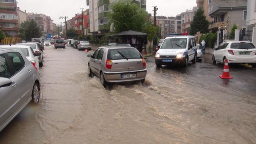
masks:
[(37, 42), (30, 42), (30, 43), (17, 43), (16, 45), (26, 45), (26, 46), (30, 46), (33, 49), (33, 52), (35, 53), (35, 55), (37, 55), (38, 53), (40, 53), (40, 55), (37, 55), (38, 60), (39, 60), (39, 66), (43, 66), (43, 62), (44, 62), (44, 52), (43, 52), (43, 48), (41, 48), (40, 44)]

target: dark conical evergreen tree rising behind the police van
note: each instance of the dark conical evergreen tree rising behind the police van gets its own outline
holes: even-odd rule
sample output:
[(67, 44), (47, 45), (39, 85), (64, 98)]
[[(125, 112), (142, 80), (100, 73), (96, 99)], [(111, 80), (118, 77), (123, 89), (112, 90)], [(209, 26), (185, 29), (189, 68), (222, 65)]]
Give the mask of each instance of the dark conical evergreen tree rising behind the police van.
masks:
[(189, 35), (195, 35), (196, 32), (207, 33), (209, 32), (209, 21), (206, 19), (204, 15), (204, 9), (199, 7), (199, 9), (195, 12), (195, 16), (193, 18), (193, 22), (190, 25)]

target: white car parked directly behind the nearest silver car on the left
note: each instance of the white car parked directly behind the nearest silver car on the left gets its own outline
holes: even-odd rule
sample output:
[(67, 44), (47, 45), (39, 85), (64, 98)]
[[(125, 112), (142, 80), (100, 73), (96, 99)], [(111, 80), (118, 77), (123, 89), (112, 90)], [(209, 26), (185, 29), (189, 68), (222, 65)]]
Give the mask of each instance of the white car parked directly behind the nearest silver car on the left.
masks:
[(0, 46), (0, 48), (10, 48), (10, 49), (17, 49), (20, 52), (22, 52), (26, 58), (29, 60), (29, 62), (35, 67), (35, 69), (38, 71), (39, 73), (39, 60), (37, 56), (40, 56), (41, 53), (37, 53), (35, 54), (35, 52), (33, 51), (33, 49), (30, 46), (26, 46), (26, 45), (3, 45)]

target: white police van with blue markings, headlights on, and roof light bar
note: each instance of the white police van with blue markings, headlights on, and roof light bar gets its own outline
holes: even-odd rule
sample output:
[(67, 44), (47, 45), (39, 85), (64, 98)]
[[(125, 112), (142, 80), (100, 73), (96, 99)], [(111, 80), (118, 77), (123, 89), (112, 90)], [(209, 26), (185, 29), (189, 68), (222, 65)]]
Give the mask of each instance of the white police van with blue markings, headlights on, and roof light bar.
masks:
[(171, 64), (188, 66), (189, 61), (196, 62), (196, 50), (194, 36), (190, 36), (188, 33), (170, 34), (159, 46), (155, 55), (155, 63), (157, 67)]

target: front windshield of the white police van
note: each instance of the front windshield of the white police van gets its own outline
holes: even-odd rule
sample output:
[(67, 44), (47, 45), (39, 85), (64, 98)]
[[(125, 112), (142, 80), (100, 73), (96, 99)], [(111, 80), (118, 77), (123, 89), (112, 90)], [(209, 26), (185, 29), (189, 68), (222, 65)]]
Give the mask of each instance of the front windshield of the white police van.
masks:
[(186, 38), (169, 38), (163, 41), (160, 49), (186, 49)]

